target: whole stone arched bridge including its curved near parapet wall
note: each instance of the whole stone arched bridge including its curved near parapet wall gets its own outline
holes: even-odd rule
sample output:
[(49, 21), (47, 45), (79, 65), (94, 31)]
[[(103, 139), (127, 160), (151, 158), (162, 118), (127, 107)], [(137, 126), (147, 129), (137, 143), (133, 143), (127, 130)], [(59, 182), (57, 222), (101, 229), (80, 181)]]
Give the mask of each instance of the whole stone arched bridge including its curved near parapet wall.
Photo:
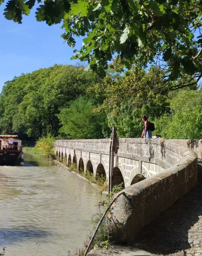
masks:
[[(78, 169), (108, 179), (110, 139), (57, 140), (55, 153)], [(198, 155), (198, 156), (197, 156)], [(114, 153), (113, 185), (124, 183), (110, 218), (111, 236), (129, 242), (142, 227), (186, 194), (197, 181), (200, 140), (119, 139)], [(136, 175), (146, 179), (136, 183)]]

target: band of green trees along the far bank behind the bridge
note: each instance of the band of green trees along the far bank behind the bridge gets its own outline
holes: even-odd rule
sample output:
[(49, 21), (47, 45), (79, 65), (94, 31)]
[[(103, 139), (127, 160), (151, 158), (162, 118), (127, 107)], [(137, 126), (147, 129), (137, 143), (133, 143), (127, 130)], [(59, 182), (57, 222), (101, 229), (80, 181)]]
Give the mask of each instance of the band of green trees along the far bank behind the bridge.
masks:
[(48, 156), (52, 153), (46, 154), (43, 144), (47, 134), (56, 139), (110, 138), (116, 126), (120, 138), (138, 138), (145, 114), (155, 123), (153, 135), (201, 138), (201, 87), (194, 79), (182, 89), (169, 81), (171, 89), (159, 93), (163, 75), (156, 67), (124, 71), (116, 59), (104, 79), (80, 65), (22, 74), (7, 81), (0, 94), (0, 131), (39, 140)]

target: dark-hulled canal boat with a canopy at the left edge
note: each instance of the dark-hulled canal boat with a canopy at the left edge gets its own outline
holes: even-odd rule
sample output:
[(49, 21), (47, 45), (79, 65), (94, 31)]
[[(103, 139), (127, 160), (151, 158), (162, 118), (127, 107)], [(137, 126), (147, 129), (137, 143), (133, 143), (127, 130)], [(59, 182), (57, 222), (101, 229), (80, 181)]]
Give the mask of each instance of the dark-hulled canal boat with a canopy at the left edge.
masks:
[(18, 135), (0, 135), (0, 165), (23, 165), (22, 141)]

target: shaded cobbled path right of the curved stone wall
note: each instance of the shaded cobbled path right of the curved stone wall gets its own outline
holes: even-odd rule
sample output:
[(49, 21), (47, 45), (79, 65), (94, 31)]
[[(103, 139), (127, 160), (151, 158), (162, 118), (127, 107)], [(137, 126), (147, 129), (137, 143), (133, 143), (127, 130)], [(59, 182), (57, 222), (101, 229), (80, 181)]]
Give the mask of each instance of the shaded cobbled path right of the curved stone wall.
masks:
[(142, 229), (133, 245), (163, 255), (202, 256), (202, 159), (197, 185)]

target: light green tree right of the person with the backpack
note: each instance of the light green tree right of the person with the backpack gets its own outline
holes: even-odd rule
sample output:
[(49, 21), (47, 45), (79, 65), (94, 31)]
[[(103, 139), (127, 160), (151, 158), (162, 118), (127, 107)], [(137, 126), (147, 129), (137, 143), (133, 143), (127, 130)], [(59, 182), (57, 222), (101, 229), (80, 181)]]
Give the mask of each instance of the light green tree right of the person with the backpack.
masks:
[(156, 132), (167, 139), (202, 137), (202, 91), (183, 90), (170, 101), (171, 114), (156, 119)]

